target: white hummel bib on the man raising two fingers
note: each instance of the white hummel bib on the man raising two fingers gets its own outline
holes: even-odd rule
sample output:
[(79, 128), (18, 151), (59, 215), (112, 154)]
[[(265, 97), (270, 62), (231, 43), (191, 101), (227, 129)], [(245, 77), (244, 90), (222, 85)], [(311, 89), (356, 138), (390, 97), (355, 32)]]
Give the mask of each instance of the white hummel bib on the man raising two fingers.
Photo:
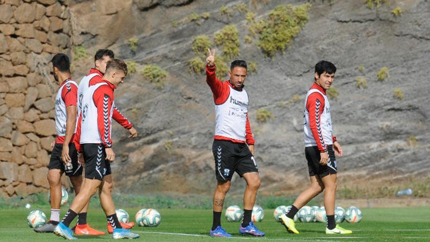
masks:
[(245, 89), (229, 88), (227, 100), (223, 104), (215, 104), (215, 135), (245, 141), (248, 93)]

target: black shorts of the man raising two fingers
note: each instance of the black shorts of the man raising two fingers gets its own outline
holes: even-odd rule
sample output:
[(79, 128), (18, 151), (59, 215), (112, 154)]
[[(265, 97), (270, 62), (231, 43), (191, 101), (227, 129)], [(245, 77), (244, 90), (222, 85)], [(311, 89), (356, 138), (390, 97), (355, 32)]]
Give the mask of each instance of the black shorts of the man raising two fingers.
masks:
[(245, 143), (233, 143), (227, 140), (214, 140), (212, 152), (215, 158), (215, 176), (217, 180), (229, 181), (233, 173), (240, 177), (248, 172), (258, 172), (254, 156)]

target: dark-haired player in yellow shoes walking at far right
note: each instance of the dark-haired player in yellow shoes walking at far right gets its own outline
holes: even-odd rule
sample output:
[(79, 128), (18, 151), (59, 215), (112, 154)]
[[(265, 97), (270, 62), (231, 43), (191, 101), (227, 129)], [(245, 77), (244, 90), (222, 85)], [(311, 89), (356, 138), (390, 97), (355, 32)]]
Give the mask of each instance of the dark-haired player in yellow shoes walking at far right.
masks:
[(326, 234), (351, 234), (336, 225), (334, 220), (336, 196), (336, 156), (342, 156), (342, 147), (333, 136), (330, 104), (326, 96), (334, 81), (336, 66), (327, 61), (315, 65), (315, 83), (308, 90), (304, 108), (305, 155), (311, 184), (296, 198), (289, 211), (280, 216), (281, 223), (290, 233), (299, 234), (294, 215), (312, 198), (324, 191), (324, 207), (327, 214)]

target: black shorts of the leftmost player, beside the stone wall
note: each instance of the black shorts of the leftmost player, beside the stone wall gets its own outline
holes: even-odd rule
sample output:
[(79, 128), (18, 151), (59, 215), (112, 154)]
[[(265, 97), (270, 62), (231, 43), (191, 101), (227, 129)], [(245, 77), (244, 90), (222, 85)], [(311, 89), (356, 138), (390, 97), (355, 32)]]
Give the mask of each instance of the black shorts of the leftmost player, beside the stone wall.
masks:
[(78, 152), (74, 143), (69, 144), (69, 156), (72, 159), (72, 165), (66, 166), (61, 159), (61, 152), (63, 151), (63, 144), (55, 143), (52, 149), (51, 158), (49, 159), (48, 169), (62, 170), (66, 176), (81, 176), (82, 166), (78, 164)]

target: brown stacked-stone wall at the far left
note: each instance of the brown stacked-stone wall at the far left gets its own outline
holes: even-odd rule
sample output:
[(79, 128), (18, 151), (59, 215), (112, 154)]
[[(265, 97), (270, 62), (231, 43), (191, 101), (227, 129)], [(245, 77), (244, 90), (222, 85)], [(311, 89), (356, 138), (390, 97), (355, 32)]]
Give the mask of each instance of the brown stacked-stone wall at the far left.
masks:
[(0, 196), (46, 191), (57, 84), (50, 60), (70, 56), (67, 0), (0, 0)]

